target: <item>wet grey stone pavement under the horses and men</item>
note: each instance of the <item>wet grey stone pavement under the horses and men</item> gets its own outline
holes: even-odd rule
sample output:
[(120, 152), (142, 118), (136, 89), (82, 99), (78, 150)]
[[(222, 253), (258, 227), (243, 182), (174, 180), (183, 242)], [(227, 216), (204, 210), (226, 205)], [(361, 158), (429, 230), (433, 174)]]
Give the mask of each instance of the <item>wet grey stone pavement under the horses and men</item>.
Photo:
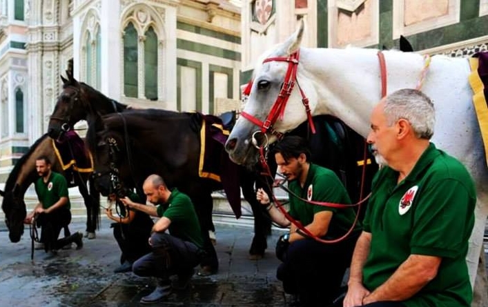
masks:
[[(189, 288), (154, 306), (286, 306), (289, 297), (275, 278), (274, 248), (264, 259), (250, 260), (251, 228), (216, 227), (219, 273), (195, 275)], [(70, 225), (71, 232), (83, 229), (80, 222)], [(273, 230), (269, 246), (274, 247), (279, 235)], [(113, 273), (119, 257), (108, 221), (103, 221), (96, 239), (84, 239), (81, 250), (59, 250), (55, 257), (36, 250), (34, 261), (28, 228), (17, 244), (10, 243), (8, 232), (0, 231), (0, 306), (139, 306), (154, 281)]]

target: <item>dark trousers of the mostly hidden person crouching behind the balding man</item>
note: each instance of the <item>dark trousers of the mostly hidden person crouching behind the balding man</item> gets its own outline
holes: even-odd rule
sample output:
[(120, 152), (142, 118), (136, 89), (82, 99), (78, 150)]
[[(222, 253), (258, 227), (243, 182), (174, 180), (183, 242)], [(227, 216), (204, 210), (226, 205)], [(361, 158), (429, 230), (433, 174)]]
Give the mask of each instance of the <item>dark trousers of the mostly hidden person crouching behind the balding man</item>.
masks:
[(151, 251), (148, 239), (153, 224), (131, 225), (113, 223), (112, 227), (113, 236), (122, 252), (122, 258), (131, 264)]

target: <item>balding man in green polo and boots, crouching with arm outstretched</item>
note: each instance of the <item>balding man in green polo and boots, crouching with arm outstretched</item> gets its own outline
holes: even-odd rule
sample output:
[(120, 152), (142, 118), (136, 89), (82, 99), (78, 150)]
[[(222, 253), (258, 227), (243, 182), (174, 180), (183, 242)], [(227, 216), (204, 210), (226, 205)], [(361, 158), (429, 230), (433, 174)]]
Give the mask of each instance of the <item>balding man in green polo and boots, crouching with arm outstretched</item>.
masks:
[[(203, 239), (197, 213), (188, 195), (177, 189), (169, 190), (159, 175), (150, 175), (142, 188), (147, 200), (157, 207), (136, 204), (128, 197), (121, 201), (130, 208), (160, 217), (149, 238), (153, 251), (133, 264), (136, 275), (157, 277), (153, 293), (141, 299), (142, 304), (153, 304), (167, 297), (172, 287), (186, 288), (204, 254)], [(178, 276), (173, 286), (169, 279), (171, 275)]]

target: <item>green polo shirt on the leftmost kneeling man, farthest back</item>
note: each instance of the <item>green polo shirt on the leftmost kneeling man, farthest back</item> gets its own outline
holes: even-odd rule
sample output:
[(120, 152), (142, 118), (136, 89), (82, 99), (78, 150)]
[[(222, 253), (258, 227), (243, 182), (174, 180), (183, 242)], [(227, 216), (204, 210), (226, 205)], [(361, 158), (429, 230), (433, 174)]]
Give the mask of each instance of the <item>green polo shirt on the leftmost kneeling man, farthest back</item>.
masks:
[[(68, 197), (68, 182), (66, 182), (66, 178), (63, 175), (57, 172), (51, 171), (51, 175), (46, 183), (44, 183), (42, 177), (37, 179), (34, 187), (37, 198), (44, 209), (56, 204), (61, 197)], [(69, 197), (68, 203), (65, 206), (68, 210), (71, 208)]]

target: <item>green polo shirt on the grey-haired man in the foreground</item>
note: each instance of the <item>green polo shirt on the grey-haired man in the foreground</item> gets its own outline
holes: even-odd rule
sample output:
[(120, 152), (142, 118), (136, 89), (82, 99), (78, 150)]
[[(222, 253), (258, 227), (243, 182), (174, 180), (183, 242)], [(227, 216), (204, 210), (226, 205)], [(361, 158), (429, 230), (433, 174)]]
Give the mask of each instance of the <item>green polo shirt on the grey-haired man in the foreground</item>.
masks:
[(363, 282), (374, 290), (409, 255), (442, 257), (437, 276), (406, 307), (471, 306), (466, 264), (474, 226), (476, 190), (466, 168), (433, 143), (400, 184), (398, 172), (384, 167), (373, 179), (363, 225), (371, 248)]

